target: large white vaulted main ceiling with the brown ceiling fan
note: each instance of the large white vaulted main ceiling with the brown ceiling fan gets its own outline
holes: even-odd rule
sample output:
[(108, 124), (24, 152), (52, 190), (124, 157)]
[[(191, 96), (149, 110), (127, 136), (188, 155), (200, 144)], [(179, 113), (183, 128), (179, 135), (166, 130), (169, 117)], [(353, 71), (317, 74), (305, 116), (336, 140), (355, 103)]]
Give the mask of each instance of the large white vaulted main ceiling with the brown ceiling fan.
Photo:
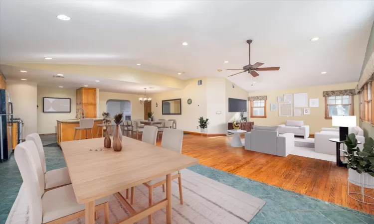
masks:
[(251, 63), (281, 68), (259, 72), (253, 87), (247, 73), (229, 78), (248, 91), (358, 81), (374, 20), (369, 0), (2, 0), (0, 10), (0, 60), (7, 62), (227, 77), (233, 73), (217, 69), (247, 65), (245, 41), (253, 39)]

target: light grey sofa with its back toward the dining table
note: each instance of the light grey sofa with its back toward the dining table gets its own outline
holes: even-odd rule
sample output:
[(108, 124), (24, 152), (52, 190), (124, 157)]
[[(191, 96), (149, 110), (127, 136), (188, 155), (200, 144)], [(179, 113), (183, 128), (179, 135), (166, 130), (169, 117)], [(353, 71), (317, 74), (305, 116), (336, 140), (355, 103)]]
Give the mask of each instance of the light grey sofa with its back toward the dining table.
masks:
[(253, 126), (245, 133), (244, 148), (278, 156), (287, 156), (294, 150), (295, 135), (293, 133), (278, 134), (278, 127)]

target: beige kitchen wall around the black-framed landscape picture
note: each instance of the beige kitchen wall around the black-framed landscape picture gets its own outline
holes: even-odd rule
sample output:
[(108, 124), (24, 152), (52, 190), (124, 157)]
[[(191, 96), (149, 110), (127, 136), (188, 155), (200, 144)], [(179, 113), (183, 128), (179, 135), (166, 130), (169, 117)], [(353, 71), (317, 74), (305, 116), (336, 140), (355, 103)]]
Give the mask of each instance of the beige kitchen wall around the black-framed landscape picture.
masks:
[[(45, 113), (43, 112), (43, 97), (55, 98), (70, 98), (71, 112), (56, 112)], [(52, 88), (52, 87), (37, 87), (37, 132), (39, 134), (56, 133), (57, 119), (73, 119), (75, 118), (75, 89), (65, 88)]]

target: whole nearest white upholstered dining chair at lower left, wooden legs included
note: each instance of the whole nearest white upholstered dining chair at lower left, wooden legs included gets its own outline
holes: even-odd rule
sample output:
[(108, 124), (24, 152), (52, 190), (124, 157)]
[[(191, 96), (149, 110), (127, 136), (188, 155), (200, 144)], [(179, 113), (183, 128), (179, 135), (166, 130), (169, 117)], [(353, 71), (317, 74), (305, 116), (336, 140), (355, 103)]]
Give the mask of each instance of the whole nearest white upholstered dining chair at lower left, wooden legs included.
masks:
[[(14, 158), (29, 203), (29, 224), (67, 223), (85, 215), (85, 205), (77, 203), (72, 185), (45, 192), (43, 168), (33, 141), (18, 144)], [(109, 224), (108, 197), (96, 200), (95, 205), (95, 211), (104, 209), (104, 222)]]

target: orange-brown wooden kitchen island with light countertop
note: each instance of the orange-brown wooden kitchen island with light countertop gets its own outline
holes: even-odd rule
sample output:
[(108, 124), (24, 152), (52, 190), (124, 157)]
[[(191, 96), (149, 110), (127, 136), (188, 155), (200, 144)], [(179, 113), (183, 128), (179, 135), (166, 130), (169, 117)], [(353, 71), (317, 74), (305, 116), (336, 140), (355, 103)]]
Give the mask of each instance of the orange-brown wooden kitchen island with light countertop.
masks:
[[(101, 124), (103, 118), (92, 118), (94, 119), (94, 126), (92, 127), (93, 138), (97, 138), (97, 124)], [(60, 145), (62, 141), (72, 141), (74, 140), (74, 127), (79, 127), (79, 119), (66, 119), (66, 120), (57, 120), (57, 144)], [(86, 130), (77, 130), (76, 139), (79, 140), (79, 131), (81, 131), (81, 139), (86, 139)], [(91, 132), (87, 131), (88, 138), (91, 138)], [(101, 137), (101, 130), (99, 133)]]

